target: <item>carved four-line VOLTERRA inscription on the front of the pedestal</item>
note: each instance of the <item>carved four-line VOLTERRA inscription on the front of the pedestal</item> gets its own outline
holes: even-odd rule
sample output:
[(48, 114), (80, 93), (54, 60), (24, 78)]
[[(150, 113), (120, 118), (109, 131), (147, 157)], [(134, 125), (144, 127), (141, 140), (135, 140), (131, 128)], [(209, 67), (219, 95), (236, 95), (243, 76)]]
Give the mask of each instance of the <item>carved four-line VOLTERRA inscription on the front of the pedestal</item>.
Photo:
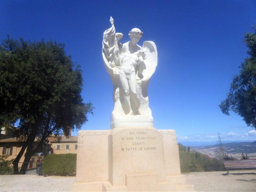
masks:
[(156, 137), (148, 135), (145, 131), (129, 132), (129, 135), (122, 137), (121, 140), (125, 145), (125, 147), (121, 148), (121, 151), (156, 150)]

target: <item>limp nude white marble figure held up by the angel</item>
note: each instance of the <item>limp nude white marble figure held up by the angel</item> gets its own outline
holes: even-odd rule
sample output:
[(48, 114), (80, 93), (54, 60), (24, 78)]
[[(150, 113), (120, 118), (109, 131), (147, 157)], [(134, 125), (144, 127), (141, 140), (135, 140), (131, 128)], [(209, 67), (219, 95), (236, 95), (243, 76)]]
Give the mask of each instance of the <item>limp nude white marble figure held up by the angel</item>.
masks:
[(136, 72), (139, 75), (144, 70), (143, 59), (145, 59), (145, 52), (142, 50), (138, 50), (133, 54), (122, 54), (121, 57), (122, 67), (120, 69), (119, 77), (124, 89), (124, 101), (129, 108), (128, 114), (133, 115), (130, 101), (130, 99), (132, 98), (136, 105), (137, 113), (141, 115), (142, 111), (140, 109), (140, 99), (137, 94)]

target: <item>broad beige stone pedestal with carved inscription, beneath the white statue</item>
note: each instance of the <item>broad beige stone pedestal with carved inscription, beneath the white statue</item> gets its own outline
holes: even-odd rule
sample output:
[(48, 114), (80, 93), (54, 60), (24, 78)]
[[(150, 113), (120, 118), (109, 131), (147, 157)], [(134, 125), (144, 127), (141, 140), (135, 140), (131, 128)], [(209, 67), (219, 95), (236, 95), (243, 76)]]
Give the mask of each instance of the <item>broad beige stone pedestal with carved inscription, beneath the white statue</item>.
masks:
[(174, 130), (79, 131), (72, 191), (194, 191), (180, 174)]

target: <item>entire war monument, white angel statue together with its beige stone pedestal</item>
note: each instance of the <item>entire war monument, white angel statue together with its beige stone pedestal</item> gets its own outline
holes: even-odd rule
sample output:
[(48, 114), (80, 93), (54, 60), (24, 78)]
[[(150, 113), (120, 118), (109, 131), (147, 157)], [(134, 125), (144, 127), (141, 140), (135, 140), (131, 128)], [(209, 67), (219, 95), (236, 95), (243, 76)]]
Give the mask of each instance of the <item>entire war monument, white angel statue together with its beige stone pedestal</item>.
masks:
[(157, 66), (152, 41), (140, 47), (140, 29), (121, 44), (121, 33), (103, 34), (102, 56), (113, 82), (114, 109), (108, 131), (79, 131), (73, 191), (193, 191), (180, 174), (174, 130), (157, 130), (147, 86)]

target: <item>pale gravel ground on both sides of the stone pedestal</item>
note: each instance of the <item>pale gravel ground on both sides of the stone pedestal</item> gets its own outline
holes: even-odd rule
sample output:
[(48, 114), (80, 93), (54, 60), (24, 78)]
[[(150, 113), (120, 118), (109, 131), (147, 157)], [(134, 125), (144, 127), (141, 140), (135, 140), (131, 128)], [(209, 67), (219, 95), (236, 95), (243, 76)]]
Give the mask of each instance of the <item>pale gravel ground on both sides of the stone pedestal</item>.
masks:
[[(256, 170), (201, 172), (185, 174), (187, 184), (196, 191), (256, 192)], [(75, 177), (38, 175), (0, 175), (1, 192), (70, 191)]]

